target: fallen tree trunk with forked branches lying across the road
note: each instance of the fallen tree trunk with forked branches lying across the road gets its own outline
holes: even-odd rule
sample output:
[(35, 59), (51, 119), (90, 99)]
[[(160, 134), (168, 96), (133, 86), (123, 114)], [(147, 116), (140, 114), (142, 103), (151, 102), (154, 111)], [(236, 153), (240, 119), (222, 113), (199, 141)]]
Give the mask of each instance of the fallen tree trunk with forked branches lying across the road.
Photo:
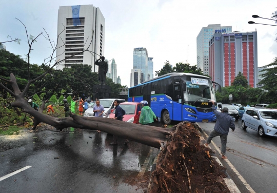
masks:
[[(28, 88), (25, 88), (24, 91), (21, 92), (16, 84), (15, 76), (12, 73), (10, 74), (10, 80), (14, 92), (8, 90), (6, 87), (2, 87), (14, 96), (15, 102), (12, 102), (13, 107), (20, 108), (34, 117), (33, 129), (35, 129), (39, 123), (43, 122), (60, 130), (67, 127), (101, 130), (114, 134), (120, 138), (128, 139), (155, 148), (164, 147), (166, 145), (166, 136), (176, 129), (176, 126), (171, 128), (160, 128), (127, 123), (114, 119), (80, 117), (73, 113), (70, 113), (70, 117), (67, 118), (54, 118), (42, 113), (46, 102), (43, 103), (43, 106), (38, 111), (34, 110), (29, 105), (24, 96), (24, 93), (28, 90)], [(29, 84), (27, 84), (26, 87), (28, 87), (28, 85)]]

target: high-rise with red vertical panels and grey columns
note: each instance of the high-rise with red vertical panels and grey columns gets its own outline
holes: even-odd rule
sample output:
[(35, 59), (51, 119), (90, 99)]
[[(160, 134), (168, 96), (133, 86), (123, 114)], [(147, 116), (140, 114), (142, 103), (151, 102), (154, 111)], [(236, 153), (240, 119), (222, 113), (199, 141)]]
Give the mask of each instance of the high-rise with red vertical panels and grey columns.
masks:
[(258, 85), (257, 32), (215, 33), (209, 41), (209, 70), (212, 81), (231, 86), (242, 72), (248, 84)]

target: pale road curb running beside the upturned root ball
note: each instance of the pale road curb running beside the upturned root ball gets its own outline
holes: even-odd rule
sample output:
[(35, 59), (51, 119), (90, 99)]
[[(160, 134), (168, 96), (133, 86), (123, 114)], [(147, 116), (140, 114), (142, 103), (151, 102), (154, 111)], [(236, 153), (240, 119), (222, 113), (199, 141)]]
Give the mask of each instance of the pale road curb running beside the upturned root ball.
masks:
[[(199, 132), (201, 134), (200, 136), (200, 146), (204, 145), (206, 143), (205, 138), (202, 136), (202, 128), (200, 127), (199, 124), (194, 123), (199, 127)], [(208, 146), (208, 148), (210, 148), (212, 150), (212, 148), (210, 147), (210, 145)], [(213, 150), (212, 150), (213, 151)], [(223, 166), (223, 164), (221, 163), (220, 159), (217, 158), (216, 156), (211, 156), (219, 165)], [(224, 167), (224, 166), (223, 166)], [(238, 186), (235, 185), (234, 181), (230, 178), (228, 172), (225, 170), (227, 178), (224, 178), (224, 182), (226, 184), (226, 186), (228, 187), (229, 191), (231, 193), (241, 193), (241, 191), (239, 190)]]

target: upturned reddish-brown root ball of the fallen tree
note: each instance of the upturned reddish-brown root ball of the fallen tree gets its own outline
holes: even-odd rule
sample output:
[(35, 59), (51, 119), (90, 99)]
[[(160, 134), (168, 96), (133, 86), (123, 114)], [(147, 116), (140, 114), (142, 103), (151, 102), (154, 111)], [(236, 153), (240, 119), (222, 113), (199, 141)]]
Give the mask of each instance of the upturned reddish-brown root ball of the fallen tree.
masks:
[(230, 192), (224, 183), (225, 168), (200, 146), (196, 124), (182, 122), (167, 138), (157, 157), (148, 192)]

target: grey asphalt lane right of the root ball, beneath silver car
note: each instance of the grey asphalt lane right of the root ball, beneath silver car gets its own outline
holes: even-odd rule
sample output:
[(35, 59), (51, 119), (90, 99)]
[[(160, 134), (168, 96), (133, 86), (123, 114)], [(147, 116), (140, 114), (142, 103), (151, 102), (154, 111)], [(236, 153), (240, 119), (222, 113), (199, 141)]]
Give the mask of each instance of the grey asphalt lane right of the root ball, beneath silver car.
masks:
[[(203, 137), (207, 140), (215, 123), (199, 123), (204, 131)], [(240, 175), (246, 180), (255, 192), (276, 192), (277, 181), (277, 138), (258, 135), (258, 131), (247, 128), (242, 129), (241, 119), (235, 121), (235, 131), (228, 134), (226, 156)], [(212, 140), (221, 149), (220, 137)], [(210, 144), (216, 152), (216, 148)], [(218, 152), (216, 155), (221, 156)], [(227, 172), (241, 190), (250, 192), (244, 183), (238, 178), (233, 168), (221, 159)]]

